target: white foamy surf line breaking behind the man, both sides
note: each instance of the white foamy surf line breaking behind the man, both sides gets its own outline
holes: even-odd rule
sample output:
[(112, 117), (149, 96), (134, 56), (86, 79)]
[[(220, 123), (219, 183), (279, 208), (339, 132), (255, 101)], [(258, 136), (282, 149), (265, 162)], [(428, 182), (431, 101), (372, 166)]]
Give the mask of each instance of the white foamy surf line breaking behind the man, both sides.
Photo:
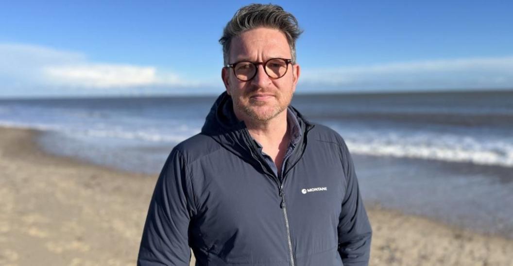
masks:
[[(114, 138), (135, 141), (136, 145), (138, 141), (178, 143), (200, 132), (198, 125), (179, 123), (173, 127), (162, 127), (162, 129), (156, 127), (137, 129), (101, 123), (88, 128), (70, 128), (69, 125), (23, 124), (2, 120), (0, 125), (61, 132), (75, 138)], [(347, 129), (337, 125), (331, 126), (344, 137), (349, 149), (355, 154), (513, 167), (513, 137), (511, 136), (405, 129)]]

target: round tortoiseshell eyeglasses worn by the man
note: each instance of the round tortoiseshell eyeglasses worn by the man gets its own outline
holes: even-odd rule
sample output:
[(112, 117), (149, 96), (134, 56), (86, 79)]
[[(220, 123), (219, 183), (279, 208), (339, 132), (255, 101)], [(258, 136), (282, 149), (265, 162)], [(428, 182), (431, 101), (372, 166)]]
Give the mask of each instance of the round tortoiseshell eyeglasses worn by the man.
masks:
[(241, 81), (249, 81), (257, 75), (258, 66), (264, 65), (264, 71), (270, 78), (277, 79), (283, 77), (288, 70), (288, 64), (291, 59), (271, 58), (266, 62), (240, 61), (230, 65), (227, 68), (233, 69), (233, 74)]

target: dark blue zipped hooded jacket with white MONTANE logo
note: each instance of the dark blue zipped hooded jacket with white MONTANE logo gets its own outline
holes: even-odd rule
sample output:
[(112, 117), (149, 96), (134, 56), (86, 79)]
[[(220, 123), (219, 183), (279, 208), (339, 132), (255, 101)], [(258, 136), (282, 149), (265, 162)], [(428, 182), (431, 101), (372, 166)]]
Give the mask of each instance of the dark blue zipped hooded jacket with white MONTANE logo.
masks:
[[(156, 183), (138, 265), (367, 265), (371, 228), (342, 137), (303, 132), (276, 176), (223, 93)], [(283, 180), (283, 181), (281, 181)]]

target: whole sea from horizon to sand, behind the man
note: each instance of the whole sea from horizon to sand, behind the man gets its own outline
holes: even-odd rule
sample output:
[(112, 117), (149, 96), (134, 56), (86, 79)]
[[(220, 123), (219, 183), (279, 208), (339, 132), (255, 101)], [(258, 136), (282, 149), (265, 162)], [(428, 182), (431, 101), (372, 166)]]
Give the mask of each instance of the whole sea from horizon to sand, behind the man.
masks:
[[(157, 175), (215, 98), (1, 99), (0, 126), (42, 131), (51, 154)], [(292, 106), (342, 135), (369, 206), (513, 238), (513, 91), (298, 94)]]

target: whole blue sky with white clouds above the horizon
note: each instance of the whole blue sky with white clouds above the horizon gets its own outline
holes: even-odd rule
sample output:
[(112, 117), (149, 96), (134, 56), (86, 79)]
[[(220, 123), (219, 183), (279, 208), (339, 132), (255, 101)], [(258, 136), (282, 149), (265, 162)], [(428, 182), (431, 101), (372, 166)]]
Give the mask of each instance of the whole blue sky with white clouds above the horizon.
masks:
[[(244, 1), (9, 1), (0, 97), (218, 94)], [(301, 92), (513, 89), (509, 1), (273, 2), (304, 29)]]

